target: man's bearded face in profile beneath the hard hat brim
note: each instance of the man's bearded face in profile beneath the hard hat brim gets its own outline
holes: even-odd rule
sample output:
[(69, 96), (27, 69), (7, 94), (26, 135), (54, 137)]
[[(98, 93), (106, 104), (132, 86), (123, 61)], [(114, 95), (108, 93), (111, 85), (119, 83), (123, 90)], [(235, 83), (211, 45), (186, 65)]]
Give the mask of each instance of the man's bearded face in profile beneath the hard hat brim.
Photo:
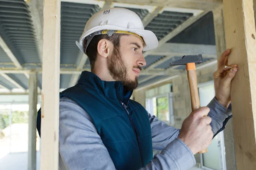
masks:
[(134, 35), (120, 38), (119, 51), (114, 48), (108, 63), (108, 70), (116, 81), (122, 81), (125, 88), (134, 90), (138, 86), (141, 67), (146, 65), (143, 57), (143, 43)]

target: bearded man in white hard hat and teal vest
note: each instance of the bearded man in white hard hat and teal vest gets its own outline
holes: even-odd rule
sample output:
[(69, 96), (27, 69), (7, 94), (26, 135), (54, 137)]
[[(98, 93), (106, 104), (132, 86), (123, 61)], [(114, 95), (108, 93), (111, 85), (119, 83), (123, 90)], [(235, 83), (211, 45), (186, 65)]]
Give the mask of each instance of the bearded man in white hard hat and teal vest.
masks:
[[(129, 99), (146, 65), (143, 51), (158, 45), (137, 14), (124, 8), (99, 11), (76, 44), (87, 54), (91, 72), (83, 71), (78, 84), (60, 94), (61, 170), (186, 170), (232, 116), (227, 107), (237, 65), (224, 68), (230, 50), (218, 62), (209, 108), (199, 108), (175, 129)], [(162, 151), (153, 158), (152, 149)]]

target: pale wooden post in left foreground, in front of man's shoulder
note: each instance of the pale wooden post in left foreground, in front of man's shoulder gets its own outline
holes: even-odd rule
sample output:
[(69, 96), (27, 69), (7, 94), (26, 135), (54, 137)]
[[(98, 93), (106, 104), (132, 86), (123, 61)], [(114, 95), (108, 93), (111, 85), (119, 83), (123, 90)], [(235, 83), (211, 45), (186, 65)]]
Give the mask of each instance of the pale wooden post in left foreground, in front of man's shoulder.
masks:
[(41, 170), (58, 170), (61, 0), (44, 0)]

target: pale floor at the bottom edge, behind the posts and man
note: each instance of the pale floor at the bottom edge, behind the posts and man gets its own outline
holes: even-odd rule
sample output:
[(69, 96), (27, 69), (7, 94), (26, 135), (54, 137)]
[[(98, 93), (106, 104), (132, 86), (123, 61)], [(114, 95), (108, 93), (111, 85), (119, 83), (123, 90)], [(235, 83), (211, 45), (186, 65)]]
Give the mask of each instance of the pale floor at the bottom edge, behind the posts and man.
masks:
[[(36, 170), (40, 170), (40, 152), (36, 155)], [(0, 159), (0, 170), (27, 170), (27, 152), (9, 153)], [(201, 170), (192, 167), (190, 170)]]

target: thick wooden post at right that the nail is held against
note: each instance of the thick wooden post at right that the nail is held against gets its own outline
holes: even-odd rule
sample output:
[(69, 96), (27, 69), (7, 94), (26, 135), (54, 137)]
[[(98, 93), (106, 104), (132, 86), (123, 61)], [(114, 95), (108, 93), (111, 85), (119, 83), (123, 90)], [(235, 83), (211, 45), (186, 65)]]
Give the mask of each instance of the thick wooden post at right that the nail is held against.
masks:
[[(254, 0), (255, 1), (255, 0)], [(253, 0), (224, 0), (228, 64), (238, 64), (231, 84), (237, 170), (256, 167), (256, 30)]]

